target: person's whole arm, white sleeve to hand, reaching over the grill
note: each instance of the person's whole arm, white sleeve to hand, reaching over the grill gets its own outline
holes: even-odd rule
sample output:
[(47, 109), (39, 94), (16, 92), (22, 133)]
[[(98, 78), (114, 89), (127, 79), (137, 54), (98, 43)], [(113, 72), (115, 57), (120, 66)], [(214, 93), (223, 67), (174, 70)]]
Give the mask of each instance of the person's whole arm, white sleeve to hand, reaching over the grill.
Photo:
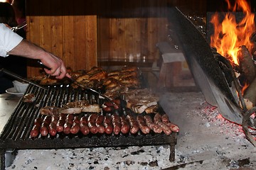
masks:
[(14, 33), (10, 28), (0, 23), (0, 55), (7, 57), (9, 55), (17, 55), (31, 59), (41, 60), (50, 70), (45, 69), (47, 74), (55, 76), (57, 79), (69, 77), (63, 60), (38, 47), (27, 40), (24, 40), (18, 34)]

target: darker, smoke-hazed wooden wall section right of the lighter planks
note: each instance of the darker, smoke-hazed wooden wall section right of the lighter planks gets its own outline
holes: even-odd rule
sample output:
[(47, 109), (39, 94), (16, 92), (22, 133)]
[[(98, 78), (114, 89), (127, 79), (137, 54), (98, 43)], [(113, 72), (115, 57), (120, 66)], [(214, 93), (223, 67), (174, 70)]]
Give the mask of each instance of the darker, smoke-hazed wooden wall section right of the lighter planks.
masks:
[(154, 60), (156, 43), (168, 38), (167, 6), (167, 0), (112, 1), (98, 19), (99, 59)]

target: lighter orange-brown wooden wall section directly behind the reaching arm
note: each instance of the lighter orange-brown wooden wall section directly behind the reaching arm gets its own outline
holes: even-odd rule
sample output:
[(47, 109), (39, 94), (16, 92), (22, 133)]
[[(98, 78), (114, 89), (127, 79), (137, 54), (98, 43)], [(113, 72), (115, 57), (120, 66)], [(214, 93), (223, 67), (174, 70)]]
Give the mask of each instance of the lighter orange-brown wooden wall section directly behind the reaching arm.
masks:
[[(97, 15), (91, 4), (27, 0), (28, 40), (58, 55), (72, 69), (90, 69), (97, 65)], [(28, 76), (38, 74), (34, 65), (29, 63)]]

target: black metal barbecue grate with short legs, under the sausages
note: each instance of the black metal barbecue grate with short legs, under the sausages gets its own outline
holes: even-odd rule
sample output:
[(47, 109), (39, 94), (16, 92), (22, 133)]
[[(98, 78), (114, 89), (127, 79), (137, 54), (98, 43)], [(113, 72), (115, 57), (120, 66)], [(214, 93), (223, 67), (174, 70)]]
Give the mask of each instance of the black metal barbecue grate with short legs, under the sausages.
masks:
[[(38, 86), (30, 84), (25, 94), (35, 94), (36, 100), (33, 103), (25, 103), (22, 98), (18, 102), (14, 112), (11, 114), (8, 123), (0, 137), (1, 148), (1, 169), (6, 166), (6, 155), (12, 155), (10, 151), (16, 149), (65, 149), (82, 147), (119, 147), (135, 145), (170, 145), (169, 160), (174, 161), (176, 145), (176, 133), (165, 135), (151, 132), (147, 135), (138, 132), (136, 135), (107, 135), (107, 134), (89, 134), (76, 135), (59, 133), (55, 137), (50, 135), (43, 137), (39, 135), (36, 138), (30, 137), (30, 131), (33, 127), (33, 121), (41, 117), (39, 110), (44, 106), (62, 106), (65, 103), (79, 100), (89, 100), (102, 104), (103, 98), (93, 94), (92, 91), (73, 89), (69, 85), (49, 86), (48, 90), (41, 89)], [(127, 108), (122, 108), (120, 114), (126, 114)], [(132, 111), (129, 111), (131, 113)], [(164, 111), (159, 108), (159, 113)], [(102, 113), (103, 114), (103, 113)]]

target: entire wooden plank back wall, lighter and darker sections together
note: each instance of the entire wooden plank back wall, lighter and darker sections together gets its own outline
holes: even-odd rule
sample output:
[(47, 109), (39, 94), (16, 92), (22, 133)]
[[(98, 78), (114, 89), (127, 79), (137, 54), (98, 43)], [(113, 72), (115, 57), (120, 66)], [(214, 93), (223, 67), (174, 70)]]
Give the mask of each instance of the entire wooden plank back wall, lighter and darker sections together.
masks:
[[(156, 43), (168, 39), (167, 7), (189, 4), (205, 9), (185, 0), (26, 0), (27, 38), (75, 70), (102, 60), (157, 60)], [(36, 74), (30, 62), (28, 76)]]

